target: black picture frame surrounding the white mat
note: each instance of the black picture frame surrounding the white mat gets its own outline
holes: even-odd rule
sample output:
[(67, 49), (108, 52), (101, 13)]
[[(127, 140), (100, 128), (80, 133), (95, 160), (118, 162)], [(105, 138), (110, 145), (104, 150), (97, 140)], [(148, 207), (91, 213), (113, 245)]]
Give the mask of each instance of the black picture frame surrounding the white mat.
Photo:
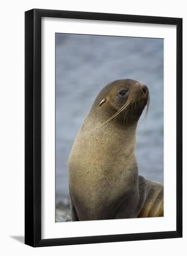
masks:
[[(168, 24), (177, 27), (176, 230), (41, 239), (41, 18)], [(33, 247), (182, 237), (182, 19), (32, 9), (25, 12), (25, 243)]]

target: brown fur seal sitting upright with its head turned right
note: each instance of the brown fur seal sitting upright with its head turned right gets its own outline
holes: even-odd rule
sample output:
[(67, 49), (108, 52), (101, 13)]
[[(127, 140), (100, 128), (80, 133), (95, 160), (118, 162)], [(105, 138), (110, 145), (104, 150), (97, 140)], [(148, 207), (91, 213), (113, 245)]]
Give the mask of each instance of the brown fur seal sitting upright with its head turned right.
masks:
[(138, 175), (137, 122), (148, 87), (116, 80), (98, 94), (68, 161), (72, 221), (163, 216), (163, 185)]

